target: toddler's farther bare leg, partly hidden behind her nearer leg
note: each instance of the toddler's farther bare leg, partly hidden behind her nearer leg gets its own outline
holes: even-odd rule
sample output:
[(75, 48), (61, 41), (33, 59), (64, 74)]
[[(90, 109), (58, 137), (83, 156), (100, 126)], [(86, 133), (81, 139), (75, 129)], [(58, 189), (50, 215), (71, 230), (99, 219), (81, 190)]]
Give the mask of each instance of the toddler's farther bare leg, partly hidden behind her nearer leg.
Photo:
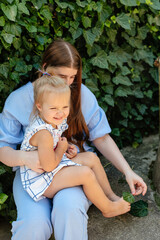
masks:
[(76, 157), (72, 159), (75, 163), (80, 163), (83, 166), (88, 166), (93, 170), (97, 181), (99, 182), (101, 188), (103, 189), (106, 196), (112, 201), (118, 201), (118, 197), (111, 189), (110, 183), (107, 178), (107, 174), (101, 164), (100, 159), (93, 152), (83, 152), (78, 153)]

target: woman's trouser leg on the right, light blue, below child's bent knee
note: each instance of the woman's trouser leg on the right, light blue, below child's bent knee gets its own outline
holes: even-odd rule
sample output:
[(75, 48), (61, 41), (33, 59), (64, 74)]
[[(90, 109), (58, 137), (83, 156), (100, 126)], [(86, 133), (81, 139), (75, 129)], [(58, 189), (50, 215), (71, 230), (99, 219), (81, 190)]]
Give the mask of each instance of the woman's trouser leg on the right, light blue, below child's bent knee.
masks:
[(87, 240), (87, 211), (90, 205), (81, 186), (59, 191), (53, 198), (51, 215), (55, 239)]

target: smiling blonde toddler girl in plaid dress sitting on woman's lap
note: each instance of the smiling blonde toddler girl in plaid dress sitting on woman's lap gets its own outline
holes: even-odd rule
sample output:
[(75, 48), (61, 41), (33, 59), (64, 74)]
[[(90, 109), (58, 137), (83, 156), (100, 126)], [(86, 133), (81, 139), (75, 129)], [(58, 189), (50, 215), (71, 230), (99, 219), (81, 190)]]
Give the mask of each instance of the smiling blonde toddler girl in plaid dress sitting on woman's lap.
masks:
[(63, 79), (43, 74), (34, 82), (34, 108), (21, 150), (38, 150), (45, 172), (20, 167), (24, 189), (39, 201), (53, 198), (61, 189), (82, 185), (87, 198), (105, 217), (128, 212), (130, 204), (113, 193), (98, 157), (90, 152), (77, 154), (76, 147), (62, 137), (68, 127), (70, 88)]

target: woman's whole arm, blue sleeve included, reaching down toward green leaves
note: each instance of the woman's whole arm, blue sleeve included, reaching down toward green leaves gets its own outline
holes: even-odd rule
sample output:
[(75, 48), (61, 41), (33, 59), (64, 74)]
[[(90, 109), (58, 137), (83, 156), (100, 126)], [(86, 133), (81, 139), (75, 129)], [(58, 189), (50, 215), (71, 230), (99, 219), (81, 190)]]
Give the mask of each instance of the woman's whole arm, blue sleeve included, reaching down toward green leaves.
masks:
[(82, 84), (82, 112), (89, 129), (89, 140), (113, 165), (125, 174), (133, 194), (145, 194), (147, 186), (136, 173), (132, 171), (122, 156), (117, 145), (110, 137), (111, 128), (103, 109), (98, 105), (94, 94)]

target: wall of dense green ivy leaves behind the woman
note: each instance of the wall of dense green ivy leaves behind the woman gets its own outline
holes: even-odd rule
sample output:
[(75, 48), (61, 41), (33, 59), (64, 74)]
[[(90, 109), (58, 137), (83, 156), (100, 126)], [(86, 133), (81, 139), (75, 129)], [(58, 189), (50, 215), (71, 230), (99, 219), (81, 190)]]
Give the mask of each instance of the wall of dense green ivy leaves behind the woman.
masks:
[[(34, 79), (55, 38), (80, 52), (83, 81), (105, 110), (119, 147), (137, 147), (157, 132), (159, 0), (1, 0), (0, 111), (11, 91)], [(0, 166), (0, 192), (10, 196), (3, 183), (8, 171)], [(5, 198), (0, 195), (0, 213), (14, 218)]]

